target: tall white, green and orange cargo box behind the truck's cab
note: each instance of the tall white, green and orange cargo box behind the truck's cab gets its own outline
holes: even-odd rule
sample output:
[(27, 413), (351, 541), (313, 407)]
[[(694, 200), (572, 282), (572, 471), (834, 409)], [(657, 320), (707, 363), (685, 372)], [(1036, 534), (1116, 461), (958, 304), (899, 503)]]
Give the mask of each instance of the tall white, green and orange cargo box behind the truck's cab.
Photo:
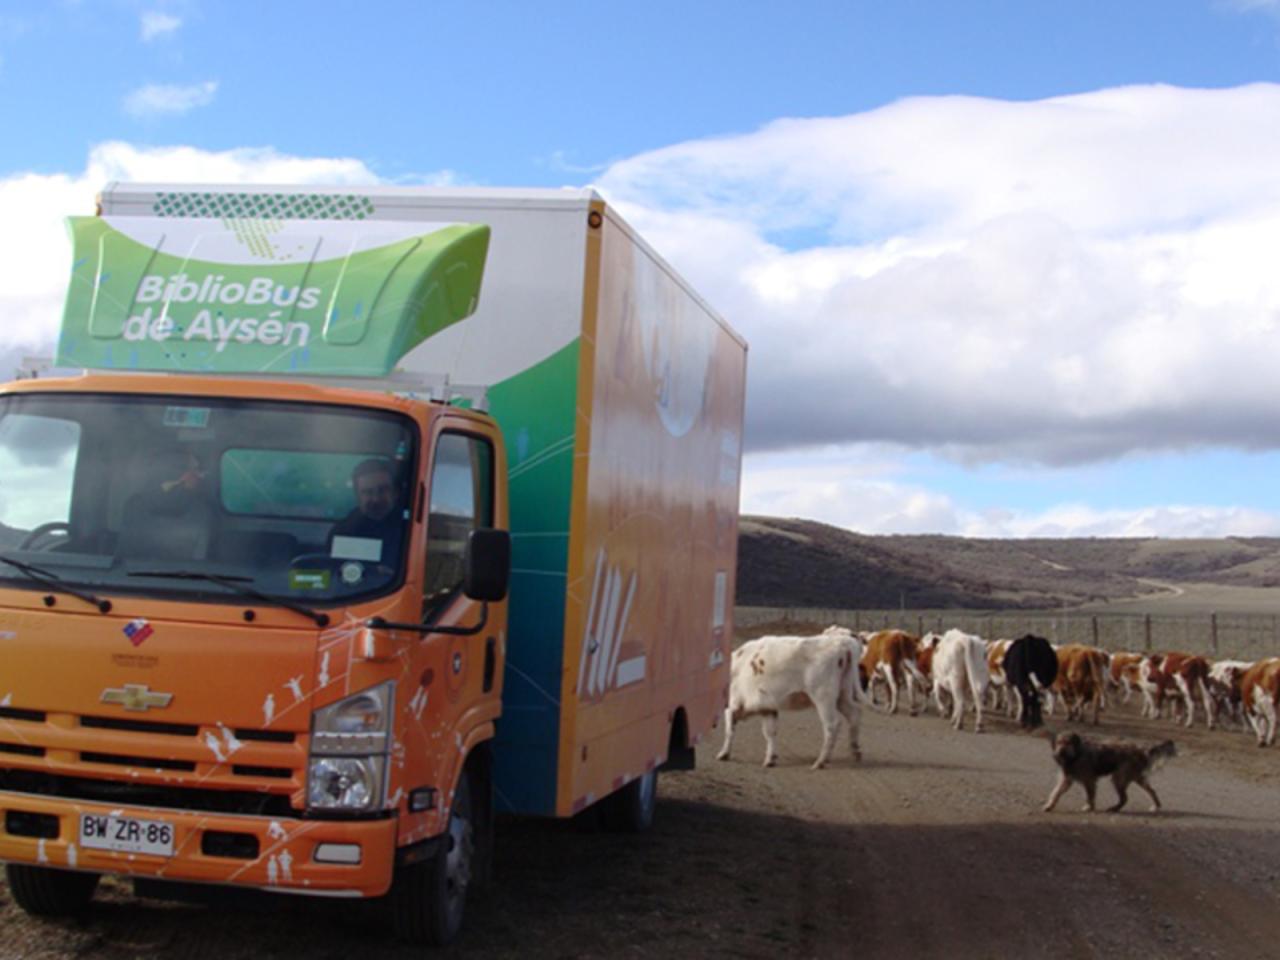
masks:
[[(101, 212), (156, 236), (172, 218), (486, 224), (479, 306), (401, 369), (483, 387), (506, 438), (498, 808), (572, 814), (660, 764), (673, 723), (708, 730), (728, 676), (745, 344), (596, 195), (131, 184)], [(60, 362), (101, 366), (84, 339), (64, 334)], [(123, 342), (106, 362), (156, 369)], [(307, 362), (293, 352), (288, 371)]]

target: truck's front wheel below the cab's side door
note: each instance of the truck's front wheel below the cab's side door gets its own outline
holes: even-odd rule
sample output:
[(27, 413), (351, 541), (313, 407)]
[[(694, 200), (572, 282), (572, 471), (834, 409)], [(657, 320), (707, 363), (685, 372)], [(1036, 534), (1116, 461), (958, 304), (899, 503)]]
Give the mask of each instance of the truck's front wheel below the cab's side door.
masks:
[(396, 872), (392, 916), (396, 936), (410, 943), (444, 946), (462, 929), (462, 913), (475, 859), (471, 777), (463, 772), (453, 794), (449, 826), (430, 860)]

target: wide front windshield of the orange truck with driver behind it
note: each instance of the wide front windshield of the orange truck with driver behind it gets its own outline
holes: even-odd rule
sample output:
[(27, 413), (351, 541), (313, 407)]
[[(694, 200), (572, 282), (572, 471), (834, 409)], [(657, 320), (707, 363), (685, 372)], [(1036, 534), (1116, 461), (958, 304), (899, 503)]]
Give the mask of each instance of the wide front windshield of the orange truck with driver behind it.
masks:
[[(3, 397), (0, 554), (96, 593), (387, 593), (403, 580), (416, 435), (361, 407)], [(44, 589), (9, 563), (0, 581)]]

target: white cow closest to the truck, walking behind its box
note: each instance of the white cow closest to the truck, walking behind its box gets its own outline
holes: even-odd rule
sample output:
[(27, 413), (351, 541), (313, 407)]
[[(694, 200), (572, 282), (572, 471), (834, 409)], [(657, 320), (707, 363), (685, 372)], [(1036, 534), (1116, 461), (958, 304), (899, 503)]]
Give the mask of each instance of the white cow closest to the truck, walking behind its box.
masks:
[(764, 765), (772, 767), (778, 759), (778, 712), (812, 705), (822, 721), (822, 750), (813, 768), (820, 769), (831, 759), (841, 717), (849, 723), (854, 759), (860, 760), (859, 704), (867, 703), (858, 682), (861, 655), (861, 641), (845, 627), (828, 627), (818, 636), (762, 636), (739, 646), (730, 667), (724, 746), (716, 759), (728, 759), (733, 724), (759, 714), (764, 730)]

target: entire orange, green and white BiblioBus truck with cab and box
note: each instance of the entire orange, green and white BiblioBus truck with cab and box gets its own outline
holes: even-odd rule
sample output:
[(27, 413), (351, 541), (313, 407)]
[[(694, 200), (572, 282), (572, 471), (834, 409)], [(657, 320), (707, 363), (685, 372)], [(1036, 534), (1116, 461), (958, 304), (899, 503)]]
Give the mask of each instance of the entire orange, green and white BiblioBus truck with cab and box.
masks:
[[(643, 829), (727, 695), (746, 347), (596, 193), (111, 184), (0, 387), (0, 859), (380, 897)], [(73, 375), (56, 375), (59, 370)]]

